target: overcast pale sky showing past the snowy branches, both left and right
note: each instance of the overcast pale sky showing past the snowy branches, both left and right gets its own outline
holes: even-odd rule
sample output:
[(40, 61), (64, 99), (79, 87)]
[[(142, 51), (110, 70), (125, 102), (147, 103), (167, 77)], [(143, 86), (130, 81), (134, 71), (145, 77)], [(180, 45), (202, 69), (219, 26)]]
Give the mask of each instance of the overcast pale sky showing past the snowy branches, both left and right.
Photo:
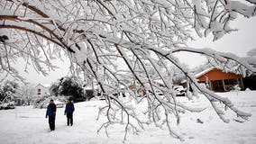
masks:
[[(213, 42), (212, 35), (206, 38), (199, 39), (196, 37), (196, 41), (189, 41), (188, 45), (194, 48), (212, 48), (218, 51), (232, 52), (238, 56), (246, 56), (247, 51), (256, 48), (256, 17), (251, 19), (241, 18), (239, 21), (232, 23), (232, 27), (239, 29), (239, 31), (233, 31), (230, 34), (224, 35), (221, 40)], [(196, 67), (202, 64), (206, 59), (199, 55), (189, 55), (187, 53), (181, 53), (178, 55), (181, 58), (182, 63), (186, 63), (188, 67)], [(54, 61), (59, 69), (50, 72), (49, 76), (39, 75), (34, 69), (30, 69), (30, 73), (23, 72), (24, 65), (17, 66), (22, 75), (32, 84), (41, 83), (42, 85), (50, 85), (55, 82), (61, 76), (67, 76), (69, 73), (69, 60)]]

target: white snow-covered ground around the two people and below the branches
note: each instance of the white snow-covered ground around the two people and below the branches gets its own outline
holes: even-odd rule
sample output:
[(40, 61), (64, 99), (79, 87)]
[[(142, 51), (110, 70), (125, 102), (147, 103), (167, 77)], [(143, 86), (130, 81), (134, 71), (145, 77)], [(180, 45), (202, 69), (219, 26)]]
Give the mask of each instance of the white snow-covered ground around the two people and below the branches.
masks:
[[(213, 108), (203, 96), (188, 102), (178, 97), (182, 103), (207, 107), (204, 112), (181, 114), (179, 133), (185, 141), (169, 136), (168, 130), (160, 130), (153, 125), (145, 127), (140, 135), (129, 134), (126, 143), (133, 144), (255, 144), (256, 143), (256, 91), (220, 93), (229, 97), (242, 111), (251, 112), (250, 121), (233, 121), (233, 112), (228, 111), (230, 123), (224, 123), (215, 114)], [(104, 101), (76, 103), (74, 125), (66, 126), (63, 108), (57, 110), (56, 130), (50, 131), (45, 109), (33, 109), (32, 106), (16, 107), (14, 110), (0, 111), (0, 143), (3, 144), (119, 144), (123, 142), (123, 126), (111, 126), (109, 138), (102, 130), (97, 134), (104, 119), (96, 121), (98, 107)], [(146, 105), (144, 105), (146, 106)], [(197, 122), (197, 119), (203, 123)]]

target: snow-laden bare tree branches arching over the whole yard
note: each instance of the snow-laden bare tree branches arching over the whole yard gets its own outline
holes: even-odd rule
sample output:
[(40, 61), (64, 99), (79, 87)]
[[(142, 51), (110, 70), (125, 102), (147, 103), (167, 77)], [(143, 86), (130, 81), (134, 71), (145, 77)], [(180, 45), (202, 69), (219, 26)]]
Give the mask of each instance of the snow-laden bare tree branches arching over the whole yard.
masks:
[[(212, 33), (214, 40), (218, 40), (235, 31), (229, 23), (238, 14), (249, 18), (256, 14), (255, 10), (253, 0), (1, 0), (0, 72), (22, 79), (12, 66), (18, 58), (23, 58), (26, 65), (47, 75), (45, 68), (56, 68), (51, 60), (65, 51), (72, 63), (79, 66), (78, 72), (85, 78), (94, 77), (105, 96), (106, 106), (100, 113), (105, 113), (107, 121), (101, 128), (125, 123), (126, 137), (130, 128), (138, 132), (144, 123), (154, 123), (160, 128), (165, 124), (171, 135), (182, 139), (170, 121), (174, 117), (178, 123), (180, 112), (203, 109), (177, 102), (171, 81), (174, 71), (170, 66), (178, 67), (187, 76), (193, 89), (193, 94), (187, 96), (198, 91), (205, 94), (223, 121), (227, 119), (216, 102), (223, 103), (242, 119), (247, 120), (250, 114), (198, 85), (197, 79), (173, 54), (200, 53), (213, 58), (221, 67), (233, 64), (243, 75), (246, 70), (255, 73), (255, 58), (239, 58), (186, 45), (187, 40), (193, 40), (191, 31), (197, 31), (200, 37)], [(144, 114), (149, 121), (142, 121), (136, 108), (114, 96), (119, 93), (132, 96), (138, 104), (146, 101), (148, 109)]]

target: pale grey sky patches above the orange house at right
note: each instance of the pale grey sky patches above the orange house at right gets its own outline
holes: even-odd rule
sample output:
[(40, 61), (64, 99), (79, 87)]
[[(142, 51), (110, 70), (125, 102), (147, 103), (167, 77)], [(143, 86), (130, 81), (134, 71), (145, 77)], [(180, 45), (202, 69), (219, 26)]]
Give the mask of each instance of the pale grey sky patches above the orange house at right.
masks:
[[(251, 19), (240, 17), (239, 20), (231, 23), (231, 27), (238, 31), (225, 34), (220, 40), (213, 41), (212, 34), (209, 34), (206, 38), (201, 39), (195, 36), (197, 40), (189, 41), (187, 44), (193, 48), (211, 48), (244, 57), (250, 49), (256, 48), (256, 17)], [(196, 67), (206, 60), (198, 54), (189, 55), (185, 52), (179, 54), (178, 58), (182, 63), (187, 63), (189, 67)]]

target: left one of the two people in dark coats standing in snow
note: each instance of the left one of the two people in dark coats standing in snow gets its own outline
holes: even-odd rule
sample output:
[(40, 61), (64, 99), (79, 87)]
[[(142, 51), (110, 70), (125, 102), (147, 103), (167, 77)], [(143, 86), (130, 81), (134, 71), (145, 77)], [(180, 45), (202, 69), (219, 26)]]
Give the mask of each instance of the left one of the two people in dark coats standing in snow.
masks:
[(53, 100), (50, 100), (49, 105), (47, 106), (45, 118), (49, 118), (50, 130), (55, 130), (55, 116), (56, 116), (56, 104)]

